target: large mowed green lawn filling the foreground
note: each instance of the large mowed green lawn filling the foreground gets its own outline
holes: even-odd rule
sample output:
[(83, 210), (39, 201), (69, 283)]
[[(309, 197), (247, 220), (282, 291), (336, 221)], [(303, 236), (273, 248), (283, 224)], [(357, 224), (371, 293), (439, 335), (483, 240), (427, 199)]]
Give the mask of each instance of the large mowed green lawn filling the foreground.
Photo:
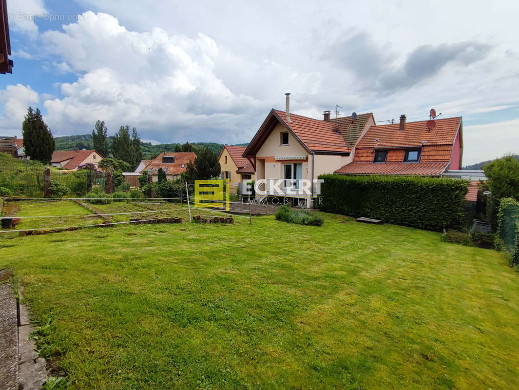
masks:
[(500, 253), (323, 215), (0, 235), (0, 268), (70, 388), (519, 388)]

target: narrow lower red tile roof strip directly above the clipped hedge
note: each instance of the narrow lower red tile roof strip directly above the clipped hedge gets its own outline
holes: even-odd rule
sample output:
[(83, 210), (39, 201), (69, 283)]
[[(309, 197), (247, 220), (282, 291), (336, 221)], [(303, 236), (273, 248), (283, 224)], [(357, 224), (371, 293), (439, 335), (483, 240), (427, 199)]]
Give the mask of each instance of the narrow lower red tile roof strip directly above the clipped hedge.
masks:
[(350, 163), (335, 173), (440, 176), (449, 162), (440, 163)]

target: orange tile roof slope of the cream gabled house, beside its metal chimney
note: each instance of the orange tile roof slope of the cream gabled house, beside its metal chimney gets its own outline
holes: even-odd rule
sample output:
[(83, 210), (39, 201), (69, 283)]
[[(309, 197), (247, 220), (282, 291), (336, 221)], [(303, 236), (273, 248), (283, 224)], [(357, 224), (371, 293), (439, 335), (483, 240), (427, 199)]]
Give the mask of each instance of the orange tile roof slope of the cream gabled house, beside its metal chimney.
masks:
[(290, 114), (292, 122), (289, 122), (284, 111), (275, 112), (311, 151), (349, 152), (350, 148), (338, 133), (335, 123), (295, 114)]

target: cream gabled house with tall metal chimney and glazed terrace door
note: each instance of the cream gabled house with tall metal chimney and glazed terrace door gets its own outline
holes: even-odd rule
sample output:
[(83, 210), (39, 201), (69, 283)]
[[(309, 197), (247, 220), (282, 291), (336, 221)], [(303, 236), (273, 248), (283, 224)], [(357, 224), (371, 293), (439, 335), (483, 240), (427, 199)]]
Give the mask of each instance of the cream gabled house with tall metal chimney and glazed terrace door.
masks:
[[(242, 156), (255, 170), (256, 181), (267, 179), (262, 190), (273, 194), (268, 179), (283, 179), (282, 190), (291, 196), (301, 180), (317, 179), (350, 163), (359, 138), (373, 125), (371, 113), (330, 119), (330, 111), (325, 111), (323, 120), (291, 114), (286, 95), (286, 110), (270, 111)], [(316, 193), (315, 185), (311, 191)], [(291, 197), (293, 203), (305, 201), (310, 206), (307, 197)]]

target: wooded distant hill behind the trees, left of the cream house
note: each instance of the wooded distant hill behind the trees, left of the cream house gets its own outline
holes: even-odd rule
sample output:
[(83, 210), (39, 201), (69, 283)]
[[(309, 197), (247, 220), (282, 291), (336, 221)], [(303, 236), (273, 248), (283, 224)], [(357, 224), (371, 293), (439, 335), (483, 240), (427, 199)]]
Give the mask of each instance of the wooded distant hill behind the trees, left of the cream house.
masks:
[[(64, 136), (55, 137), (56, 150), (74, 150), (76, 149), (93, 149), (92, 135), (83, 134), (79, 136)], [(202, 149), (203, 147), (209, 147), (214, 153), (220, 154), (224, 144), (217, 142), (193, 142), (191, 143), (195, 149)], [(176, 145), (182, 145), (179, 143), (160, 143), (158, 145), (152, 145), (151, 142), (142, 143), (142, 155), (144, 159), (152, 159), (156, 157), (160, 152), (174, 152)], [(240, 143), (236, 146), (247, 146), (248, 143)], [(112, 137), (108, 137), (108, 147), (112, 148)]]

